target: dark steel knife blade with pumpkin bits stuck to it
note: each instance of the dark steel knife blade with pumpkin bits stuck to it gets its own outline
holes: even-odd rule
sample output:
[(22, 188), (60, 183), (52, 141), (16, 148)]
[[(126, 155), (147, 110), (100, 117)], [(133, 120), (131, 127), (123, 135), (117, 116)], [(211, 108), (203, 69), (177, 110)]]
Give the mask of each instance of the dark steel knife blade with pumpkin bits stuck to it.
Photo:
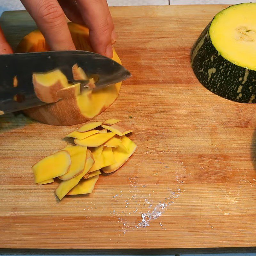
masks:
[[(33, 73), (60, 69), (69, 81), (73, 81), (74, 64), (78, 64), (86, 74), (96, 74), (99, 77), (93, 90), (121, 82), (131, 76), (130, 72), (116, 61), (87, 51), (0, 55), (0, 115), (47, 104), (39, 100), (35, 94)], [(17, 86), (15, 79), (18, 82)], [(83, 84), (86, 87), (86, 82)]]

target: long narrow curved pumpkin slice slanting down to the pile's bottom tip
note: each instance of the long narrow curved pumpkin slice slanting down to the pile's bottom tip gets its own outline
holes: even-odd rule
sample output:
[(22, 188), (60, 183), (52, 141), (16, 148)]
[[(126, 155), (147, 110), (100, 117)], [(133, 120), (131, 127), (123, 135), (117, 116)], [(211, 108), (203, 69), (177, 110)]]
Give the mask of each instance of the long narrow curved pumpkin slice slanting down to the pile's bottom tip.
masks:
[(84, 171), (70, 180), (61, 181), (59, 186), (55, 189), (55, 194), (59, 197), (60, 200), (78, 184), (78, 182), (84, 177), (88, 170), (92, 168), (93, 164), (94, 160), (92, 158), (92, 154), (90, 150), (87, 150)]

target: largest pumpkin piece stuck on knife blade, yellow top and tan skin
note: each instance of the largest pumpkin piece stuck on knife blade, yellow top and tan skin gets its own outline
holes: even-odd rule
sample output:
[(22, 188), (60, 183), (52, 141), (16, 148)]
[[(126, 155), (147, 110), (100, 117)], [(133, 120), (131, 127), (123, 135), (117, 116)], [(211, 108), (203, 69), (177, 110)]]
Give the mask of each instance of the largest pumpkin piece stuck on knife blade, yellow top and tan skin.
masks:
[(69, 86), (67, 77), (59, 69), (34, 73), (33, 85), (38, 99), (46, 103), (58, 101), (60, 98), (57, 92)]

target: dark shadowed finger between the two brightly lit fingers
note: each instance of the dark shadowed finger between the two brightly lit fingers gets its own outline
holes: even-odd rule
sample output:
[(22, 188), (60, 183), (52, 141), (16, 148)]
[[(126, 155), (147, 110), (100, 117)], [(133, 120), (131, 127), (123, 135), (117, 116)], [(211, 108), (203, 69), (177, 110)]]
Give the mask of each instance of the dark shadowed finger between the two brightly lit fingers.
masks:
[(58, 2), (69, 20), (78, 24), (84, 24), (75, 0), (58, 0)]

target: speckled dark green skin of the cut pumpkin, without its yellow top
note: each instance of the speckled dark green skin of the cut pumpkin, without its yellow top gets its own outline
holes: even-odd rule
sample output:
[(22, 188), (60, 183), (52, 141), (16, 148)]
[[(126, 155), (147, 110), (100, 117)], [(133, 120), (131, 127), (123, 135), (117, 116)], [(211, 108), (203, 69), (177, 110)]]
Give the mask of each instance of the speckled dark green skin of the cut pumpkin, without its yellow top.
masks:
[(240, 103), (256, 103), (256, 71), (224, 59), (209, 35), (210, 24), (191, 51), (191, 66), (201, 84), (209, 91)]

